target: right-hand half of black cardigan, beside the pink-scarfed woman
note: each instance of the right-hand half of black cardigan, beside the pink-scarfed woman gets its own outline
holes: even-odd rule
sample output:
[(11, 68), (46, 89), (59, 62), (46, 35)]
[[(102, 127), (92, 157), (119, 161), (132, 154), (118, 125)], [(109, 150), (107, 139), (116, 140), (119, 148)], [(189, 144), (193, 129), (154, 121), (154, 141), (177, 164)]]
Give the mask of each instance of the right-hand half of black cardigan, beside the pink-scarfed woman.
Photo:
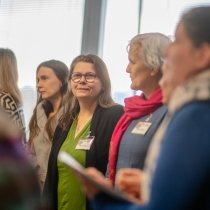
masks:
[(91, 135), (95, 136), (95, 139), (91, 149), (87, 151), (86, 167), (95, 167), (103, 174), (106, 173), (111, 136), (123, 114), (121, 105), (96, 108), (90, 128)]

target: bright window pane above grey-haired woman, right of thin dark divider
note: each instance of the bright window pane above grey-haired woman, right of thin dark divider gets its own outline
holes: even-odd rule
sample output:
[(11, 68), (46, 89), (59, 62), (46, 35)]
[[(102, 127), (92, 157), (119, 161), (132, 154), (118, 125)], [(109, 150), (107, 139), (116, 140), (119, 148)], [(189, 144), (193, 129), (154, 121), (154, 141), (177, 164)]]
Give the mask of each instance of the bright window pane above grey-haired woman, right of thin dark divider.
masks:
[(174, 35), (181, 14), (198, 5), (210, 5), (210, 0), (145, 0), (142, 4), (140, 32)]

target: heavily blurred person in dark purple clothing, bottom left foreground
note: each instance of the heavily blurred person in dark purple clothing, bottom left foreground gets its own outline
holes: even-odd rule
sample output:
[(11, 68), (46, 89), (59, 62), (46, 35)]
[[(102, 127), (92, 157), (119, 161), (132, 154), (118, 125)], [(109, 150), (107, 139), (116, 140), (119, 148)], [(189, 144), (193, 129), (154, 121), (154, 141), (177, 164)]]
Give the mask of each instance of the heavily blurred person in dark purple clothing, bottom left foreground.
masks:
[(13, 123), (0, 108), (0, 209), (44, 210), (35, 171)]

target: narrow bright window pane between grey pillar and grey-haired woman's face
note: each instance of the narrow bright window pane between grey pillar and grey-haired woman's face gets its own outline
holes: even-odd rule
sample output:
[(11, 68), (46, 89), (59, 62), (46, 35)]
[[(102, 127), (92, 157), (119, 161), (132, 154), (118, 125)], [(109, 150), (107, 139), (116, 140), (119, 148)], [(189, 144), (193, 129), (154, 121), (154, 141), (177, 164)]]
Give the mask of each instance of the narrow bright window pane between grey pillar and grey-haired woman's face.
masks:
[(126, 73), (129, 40), (138, 34), (139, 0), (108, 0), (102, 57), (107, 64), (116, 102), (133, 95)]

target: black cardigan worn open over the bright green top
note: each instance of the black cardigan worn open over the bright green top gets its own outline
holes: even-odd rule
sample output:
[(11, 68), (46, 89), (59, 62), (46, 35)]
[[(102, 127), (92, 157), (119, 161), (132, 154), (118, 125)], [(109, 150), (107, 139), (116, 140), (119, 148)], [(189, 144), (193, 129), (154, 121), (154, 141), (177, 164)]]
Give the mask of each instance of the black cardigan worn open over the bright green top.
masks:
[[(106, 173), (108, 163), (109, 142), (111, 140), (114, 128), (123, 115), (123, 106), (115, 105), (110, 108), (97, 106), (90, 126), (90, 135), (95, 136), (90, 150), (86, 150), (86, 167), (95, 167), (103, 174)], [(57, 186), (58, 186), (58, 169), (57, 156), (65, 141), (73, 121), (70, 121), (68, 129), (63, 131), (59, 126), (55, 130), (53, 137), (52, 149), (49, 156), (48, 170), (44, 185), (43, 195), (48, 197), (52, 207), (48, 209), (57, 210)], [(89, 205), (86, 205), (89, 209)]]

